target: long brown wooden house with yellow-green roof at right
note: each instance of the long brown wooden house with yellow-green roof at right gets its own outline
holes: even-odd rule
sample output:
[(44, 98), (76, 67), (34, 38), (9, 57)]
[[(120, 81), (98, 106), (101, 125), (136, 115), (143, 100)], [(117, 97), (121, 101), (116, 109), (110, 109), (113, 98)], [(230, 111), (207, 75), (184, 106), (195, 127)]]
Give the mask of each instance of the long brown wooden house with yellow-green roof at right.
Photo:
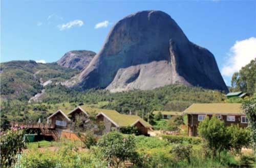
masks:
[(248, 119), (241, 108), (240, 103), (205, 103), (193, 104), (183, 113), (187, 114), (187, 134), (197, 136), (197, 127), (206, 116), (216, 115), (224, 121), (226, 126), (238, 124), (240, 127), (247, 127)]

